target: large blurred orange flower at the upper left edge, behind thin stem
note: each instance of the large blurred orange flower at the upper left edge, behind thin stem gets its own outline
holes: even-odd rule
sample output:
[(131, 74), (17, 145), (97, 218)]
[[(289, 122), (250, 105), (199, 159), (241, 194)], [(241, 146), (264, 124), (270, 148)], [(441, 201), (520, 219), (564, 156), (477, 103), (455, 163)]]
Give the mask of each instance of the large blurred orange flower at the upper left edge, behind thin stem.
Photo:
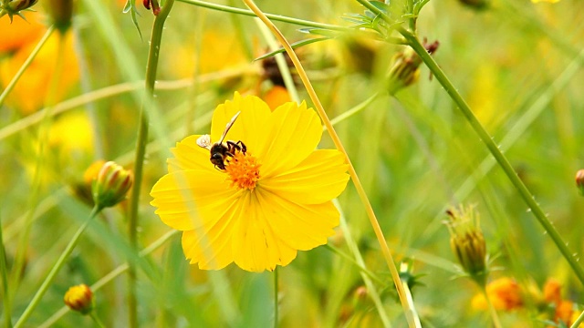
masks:
[[(56, 94), (52, 95), (54, 97), (52, 100), (61, 100), (70, 87), (77, 83), (79, 71), (77, 56), (73, 50), (73, 36), (70, 32), (65, 35), (54, 33), (36, 55), (30, 67), (26, 68), (25, 74), (6, 98), (6, 105), (18, 108), (24, 115), (34, 113), (46, 105), (48, 87), (51, 78), (56, 75), (55, 67), (60, 37), (65, 38), (65, 51), (62, 58), (63, 70), (59, 74), (58, 87)], [(14, 56), (8, 57), (0, 63), (0, 86), (8, 85), (35, 46), (36, 43), (27, 44), (20, 48)]]

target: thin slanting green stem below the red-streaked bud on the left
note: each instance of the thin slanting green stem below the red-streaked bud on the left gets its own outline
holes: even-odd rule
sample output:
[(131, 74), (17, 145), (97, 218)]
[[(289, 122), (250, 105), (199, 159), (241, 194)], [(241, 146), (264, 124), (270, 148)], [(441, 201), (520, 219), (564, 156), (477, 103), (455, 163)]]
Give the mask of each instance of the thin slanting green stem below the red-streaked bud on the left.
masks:
[(63, 267), (63, 264), (65, 264), (65, 261), (71, 254), (71, 251), (73, 251), (73, 249), (77, 245), (79, 237), (81, 237), (83, 231), (85, 231), (85, 229), (88, 227), (89, 222), (91, 222), (91, 220), (93, 220), (93, 218), (95, 218), (96, 215), (98, 215), (100, 210), (101, 209), (98, 208), (97, 206), (94, 207), (93, 210), (91, 210), (91, 214), (89, 214), (89, 219), (86, 220), (85, 223), (83, 223), (83, 225), (79, 227), (77, 232), (75, 232), (73, 238), (71, 238), (71, 241), (69, 241), (67, 247), (65, 248), (65, 251), (61, 253), (61, 256), (58, 258), (55, 265), (53, 265), (51, 271), (48, 272), (47, 278), (45, 278), (45, 281), (41, 284), (40, 288), (38, 288), (38, 291), (36, 291), (36, 294), (33, 297), (32, 301), (28, 303), (28, 306), (26, 306), (25, 312), (22, 313), (22, 315), (16, 322), (15, 328), (19, 328), (23, 324), (25, 324), (30, 314), (32, 314), (33, 311), (35, 311), (36, 306), (40, 302), (41, 298), (43, 297), (43, 295), (45, 295), (45, 292), (47, 292), (49, 285), (51, 284), (51, 282), (53, 282), (53, 280), (57, 276), (57, 273), (59, 272), (59, 270), (61, 270), (61, 267)]

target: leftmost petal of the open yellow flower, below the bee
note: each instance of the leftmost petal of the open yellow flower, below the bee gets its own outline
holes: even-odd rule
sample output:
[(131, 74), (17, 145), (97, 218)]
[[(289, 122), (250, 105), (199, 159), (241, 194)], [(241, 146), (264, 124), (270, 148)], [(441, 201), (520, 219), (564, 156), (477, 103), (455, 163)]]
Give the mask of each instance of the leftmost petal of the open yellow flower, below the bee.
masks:
[[(207, 173), (202, 169), (175, 171), (156, 182), (151, 205), (158, 208), (155, 212), (162, 222), (179, 231), (211, 227), (231, 208), (241, 192), (230, 188), (224, 175)], [(214, 215), (207, 215), (209, 212)]]

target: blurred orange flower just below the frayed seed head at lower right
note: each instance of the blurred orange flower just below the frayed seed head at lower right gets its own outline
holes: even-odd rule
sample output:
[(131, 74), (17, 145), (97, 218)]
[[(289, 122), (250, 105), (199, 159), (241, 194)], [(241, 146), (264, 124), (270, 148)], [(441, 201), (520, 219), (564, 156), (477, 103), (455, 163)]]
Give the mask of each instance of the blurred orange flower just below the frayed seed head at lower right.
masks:
[[(486, 285), (486, 293), (496, 310), (512, 311), (523, 306), (521, 289), (516, 281), (511, 278), (499, 278)], [(488, 305), (483, 293), (476, 294), (471, 301), (471, 306), (476, 310), (487, 310)]]

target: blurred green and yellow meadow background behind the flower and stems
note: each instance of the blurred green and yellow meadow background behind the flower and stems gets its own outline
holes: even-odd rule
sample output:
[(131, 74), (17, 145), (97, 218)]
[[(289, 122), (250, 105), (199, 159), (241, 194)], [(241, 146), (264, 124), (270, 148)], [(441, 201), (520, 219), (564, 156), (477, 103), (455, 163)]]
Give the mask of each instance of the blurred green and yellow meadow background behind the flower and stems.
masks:
[[(214, 3), (243, 7), (235, 1)], [(352, 1), (256, 3), (267, 13), (343, 26), (349, 26), (343, 15), (364, 10)], [(29, 23), (16, 17), (10, 25), (7, 17), (0, 19), (1, 89), (47, 30), (47, 5), (51, 3), (41, 0), (36, 13), (26, 12)], [(59, 34), (51, 36), (0, 108), (0, 217), (13, 321), (89, 215), (90, 205), (81, 196), (81, 190), (87, 191), (83, 175), (89, 165), (97, 159), (116, 160), (130, 169), (133, 165), (142, 84), (131, 82), (145, 74), (151, 12), (137, 4), (141, 38), (130, 15), (122, 14), (122, 1), (99, 2), (99, 12), (89, 10), (85, 1), (74, 5), (65, 45), (59, 51)], [(298, 32), (303, 26), (276, 25), (291, 42), (312, 37)], [(177, 2), (172, 8), (155, 92), (162, 117), (151, 122), (145, 176), (134, 187), (142, 190), (142, 247), (170, 231), (154, 214), (148, 194), (166, 173), (168, 149), (190, 134), (206, 133), (211, 112), (234, 91), (270, 97), (273, 86), (261, 62), (253, 61), (267, 49), (258, 26), (254, 18), (193, 4)], [(440, 42), (435, 60), (577, 254), (584, 247), (584, 202), (574, 184), (576, 171), (584, 167), (583, 28), (584, 5), (573, 0), (493, 0), (483, 10), (433, 0), (418, 20), (418, 35)], [(456, 278), (443, 225), (446, 207), (464, 203), (475, 204), (481, 213), (488, 251), (500, 269), (492, 279), (512, 277), (524, 292), (525, 306), (500, 311), (504, 326), (545, 326), (538, 321), (544, 316), (537, 297), (528, 291), (554, 278), (565, 299), (579, 302), (582, 286), (427, 68), (422, 65), (412, 87), (395, 97), (383, 94), (391, 58), (402, 50), (347, 35), (303, 46), (298, 54), (330, 118), (381, 92), (336, 128), (395, 260), (412, 259), (413, 273), (422, 275), (422, 285), (412, 290), (422, 325), (491, 324), (485, 310), (471, 306), (478, 288)], [(65, 59), (56, 68), (58, 56)], [(304, 88), (298, 90), (310, 103)], [(78, 103), (71, 105), (70, 99)], [(320, 146), (334, 148), (323, 136)], [(367, 267), (386, 282), (375, 287), (391, 323), (407, 326), (352, 184), (339, 204)], [(27, 326), (38, 326), (56, 313), (71, 285), (97, 282), (128, 259), (126, 210), (125, 203), (106, 210), (89, 227)], [(19, 241), (26, 241), (26, 251), (19, 249)], [(340, 229), (330, 242), (349, 253), (347, 235)], [(18, 273), (11, 271), (17, 251), (26, 255)], [(272, 273), (243, 272), (235, 265), (221, 272), (200, 271), (184, 261), (179, 234), (151, 253), (138, 273), (141, 326), (273, 324)], [(106, 326), (127, 324), (126, 282), (121, 275), (96, 292), (97, 313)], [(355, 296), (363, 285), (359, 269), (326, 247), (301, 251), (280, 270), (281, 326), (381, 326), (370, 299)], [(54, 326), (90, 324), (89, 318), (68, 313)]]

